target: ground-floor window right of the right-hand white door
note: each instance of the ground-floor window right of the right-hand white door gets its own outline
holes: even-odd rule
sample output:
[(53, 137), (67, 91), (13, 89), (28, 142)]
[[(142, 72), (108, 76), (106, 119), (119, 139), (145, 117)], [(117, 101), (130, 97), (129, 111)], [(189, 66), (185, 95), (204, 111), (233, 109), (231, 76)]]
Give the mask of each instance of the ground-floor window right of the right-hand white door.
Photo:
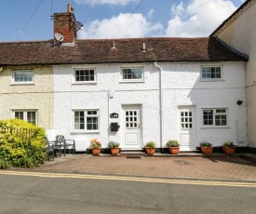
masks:
[(206, 127), (226, 127), (227, 109), (203, 109), (203, 121)]

